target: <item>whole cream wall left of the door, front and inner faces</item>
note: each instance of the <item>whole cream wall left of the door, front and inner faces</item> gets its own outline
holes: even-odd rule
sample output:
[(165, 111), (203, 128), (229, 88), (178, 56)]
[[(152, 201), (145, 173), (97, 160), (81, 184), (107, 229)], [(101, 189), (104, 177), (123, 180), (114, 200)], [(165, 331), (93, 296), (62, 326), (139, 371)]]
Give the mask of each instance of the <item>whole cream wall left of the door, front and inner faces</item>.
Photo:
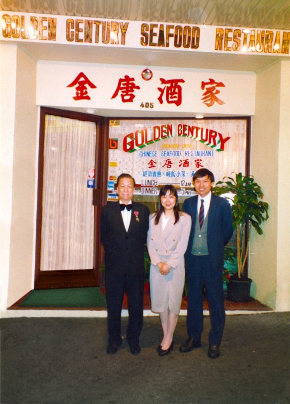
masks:
[(0, 309), (5, 310), (33, 289), (38, 108), (36, 62), (21, 47), (0, 46), (1, 54), (5, 54), (0, 79)]

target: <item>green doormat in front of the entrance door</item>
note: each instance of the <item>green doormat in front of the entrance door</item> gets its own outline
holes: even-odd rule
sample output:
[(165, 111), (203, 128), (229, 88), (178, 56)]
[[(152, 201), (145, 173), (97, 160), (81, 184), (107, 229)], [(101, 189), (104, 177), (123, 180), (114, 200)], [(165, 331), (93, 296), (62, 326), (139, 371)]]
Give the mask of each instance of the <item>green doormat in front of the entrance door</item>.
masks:
[(100, 288), (34, 290), (19, 307), (107, 307)]

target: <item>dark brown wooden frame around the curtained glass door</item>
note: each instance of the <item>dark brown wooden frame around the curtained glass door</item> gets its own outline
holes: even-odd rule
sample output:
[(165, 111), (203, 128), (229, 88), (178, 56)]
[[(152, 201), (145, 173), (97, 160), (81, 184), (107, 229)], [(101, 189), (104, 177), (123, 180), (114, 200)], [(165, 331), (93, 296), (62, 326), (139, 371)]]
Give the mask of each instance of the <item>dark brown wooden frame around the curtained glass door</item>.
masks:
[(100, 228), (94, 226), (94, 257), (93, 268), (87, 270), (60, 270), (40, 271), (41, 252), (41, 226), (42, 226), (42, 197), (43, 197), (43, 169), (44, 169), (44, 137), (45, 115), (56, 115), (70, 119), (95, 122), (96, 133), (96, 156), (95, 156), (95, 189), (92, 192), (94, 203), (94, 222), (99, 223), (101, 207), (106, 202), (106, 181), (108, 173), (108, 119), (74, 111), (41, 107), (39, 128), (39, 156), (38, 156), (38, 190), (37, 190), (37, 213), (36, 213), (36, 243), (35, 243), (35, 289), (50, 288), (73, 288), (99, 286), (99, 268), (103, 261), (103, 250), (100, 242)]

